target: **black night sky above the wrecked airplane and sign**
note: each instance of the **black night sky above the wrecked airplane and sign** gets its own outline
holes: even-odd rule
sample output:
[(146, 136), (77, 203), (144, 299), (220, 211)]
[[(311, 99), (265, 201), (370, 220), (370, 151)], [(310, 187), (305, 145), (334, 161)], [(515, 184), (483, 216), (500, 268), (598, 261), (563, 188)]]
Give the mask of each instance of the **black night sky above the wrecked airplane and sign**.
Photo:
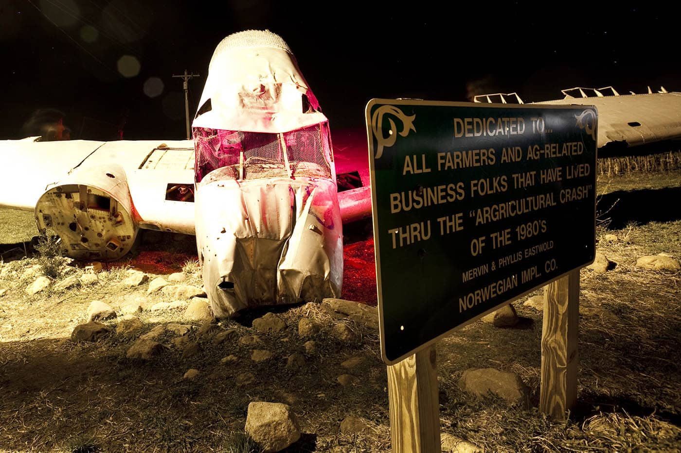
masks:
[(124, 124), (125, 139), (182, 139), (172, 75), (201, 75), (189, 84), (193, 116), (215, 46), (246, 29), (287, 41), (332, 131), (362, 127), (373, 97), (681, 90), (678, 11), (594, 3), (0, 0), (0, 139), (20, 138), (47, 107), (65, 113), (72, 138), (110, 139)]

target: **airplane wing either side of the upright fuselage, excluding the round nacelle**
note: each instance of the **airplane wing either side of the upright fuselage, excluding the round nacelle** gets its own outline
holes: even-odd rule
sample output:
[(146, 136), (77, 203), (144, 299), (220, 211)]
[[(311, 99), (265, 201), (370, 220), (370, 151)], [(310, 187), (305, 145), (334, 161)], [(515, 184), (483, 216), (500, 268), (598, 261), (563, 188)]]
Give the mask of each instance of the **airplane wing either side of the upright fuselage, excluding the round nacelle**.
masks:
[[(366, 149), (363, 129), (338, 134), (334, 158), (343, 222), (371, 215)], [(195, 234), (192, 140), (4, 140), (0, 156), (0, 205), (33, 211), (55, 183), (76, 178), (74, 184), (88, 186), (100, 168), (116, 166), (125, 173), (131, 216), (140, 228)]]

